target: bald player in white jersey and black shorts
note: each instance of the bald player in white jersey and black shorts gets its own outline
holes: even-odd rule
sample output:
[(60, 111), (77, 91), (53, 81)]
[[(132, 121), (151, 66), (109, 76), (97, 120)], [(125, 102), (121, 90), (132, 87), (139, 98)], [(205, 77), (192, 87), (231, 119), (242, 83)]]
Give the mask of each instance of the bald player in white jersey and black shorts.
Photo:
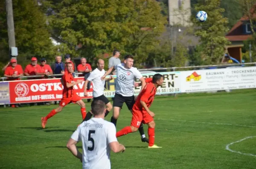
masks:
[[(93, 82), (93, 100), (101, 100), (106, 104), (107, 106), (107, 110), (105, 113), (105, 117), (106, 117), (108, 113), (112, 110), (113, 106), (111, 102), (108, 100), (108, 98), (104, 96), (104, 85), (105, 85), (105, 82), (108, 82), (113, 78), (112, 76), (110, 76), (110, 78), (108, 79), (104, 79), (104, 80), (101, 79), (101, 77), (105, 74), (104, 64), (105, 64), (104, 60), (102, 59), (99, 59), (97, 61), (98, 67), (94, 69), (92, 73), (90, 73), (90, 76), (84, 82), (84, 96), (88, 96), (87, 84), (89, 81), (92, 81)], [(83, 121), (90, 120), (91, 117), (92, 117), (92, 113), (89, 111)]]

